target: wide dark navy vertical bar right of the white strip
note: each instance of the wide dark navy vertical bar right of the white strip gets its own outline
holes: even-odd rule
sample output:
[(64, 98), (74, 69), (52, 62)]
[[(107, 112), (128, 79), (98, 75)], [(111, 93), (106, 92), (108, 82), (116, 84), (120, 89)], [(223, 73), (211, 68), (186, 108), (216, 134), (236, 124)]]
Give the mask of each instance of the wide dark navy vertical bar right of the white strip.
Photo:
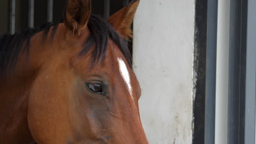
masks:
[(230, 1), (228, 143), (245, 139), (247, 0)]

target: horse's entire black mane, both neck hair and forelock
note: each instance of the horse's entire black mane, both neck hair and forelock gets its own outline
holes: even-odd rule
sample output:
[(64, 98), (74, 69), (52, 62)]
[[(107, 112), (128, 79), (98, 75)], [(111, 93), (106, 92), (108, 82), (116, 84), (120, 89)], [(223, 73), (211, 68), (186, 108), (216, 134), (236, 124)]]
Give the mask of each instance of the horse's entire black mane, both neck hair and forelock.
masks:
[[(0, 77), (8, 75), (15, 69), (20, 53), (29, 53), (30, 40), (33, 35), (44, 31), (44, 41), (52, 26), (53, 31), (51, 32), (50, 37), (53, 39), (59, 23), (46, 23), (40, 27), (28, 28), (25, 31), (16, 32), (14, 35), (5, 34), (0, 36)], [(95, 45), (95, 49), (91, 53), (91, 62), (92, 64), (103, 62), (108, 50), (108, 40), (110, 39), (120, 48), (127, 62), (131, 66), (131, 53), (127, 47), (126, 41), (120, 37), (120, 35), (106, 20), (102, 17), (91, 15), (88, 27), (91, 34), (86, 40), (84, 49), (79, 53), (79, 56), (88, 52), (91, 47)], [(22, 47), (24, 44), (25, 46)]]

